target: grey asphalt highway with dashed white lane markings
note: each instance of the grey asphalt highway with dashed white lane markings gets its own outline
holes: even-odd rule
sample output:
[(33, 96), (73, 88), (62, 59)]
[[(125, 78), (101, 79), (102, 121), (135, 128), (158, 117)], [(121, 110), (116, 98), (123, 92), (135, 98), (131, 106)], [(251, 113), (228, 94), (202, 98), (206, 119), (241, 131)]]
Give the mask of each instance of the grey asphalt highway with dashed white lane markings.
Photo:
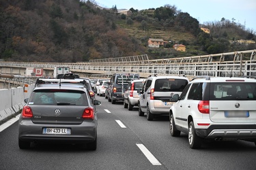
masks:
[(187, 135), (171, 137), (169, 118), (147, 121), (137, 107), (102, 101), (98, 109), (98, 148), (35, 144), (18, 148), (18, 122), (0, 132), (0, 169), (256, 169), (256, 146), (247, 141), (188, 146)]

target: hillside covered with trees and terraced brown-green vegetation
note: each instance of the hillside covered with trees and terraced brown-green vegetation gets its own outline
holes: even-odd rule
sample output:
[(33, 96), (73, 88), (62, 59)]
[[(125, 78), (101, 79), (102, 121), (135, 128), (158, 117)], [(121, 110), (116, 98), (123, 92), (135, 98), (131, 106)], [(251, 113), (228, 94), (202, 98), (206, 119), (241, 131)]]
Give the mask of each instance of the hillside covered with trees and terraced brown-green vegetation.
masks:
[[(81, 62), (148, 54), (150, 59), (174, 58), (256, 49), (237, 44), (253, 39), (244, 26), (222, 18), (200, 30), (197, 19), (177, 7), (134, 10), (117, 15), (117, 8), (102, 9), (94, 1), (1, 0), (0, 59), (31, 62)], [(147, 48), (149, 38), (168, 41), (165, 48)], [(173, 44), (184, 44), (177, 52)]]

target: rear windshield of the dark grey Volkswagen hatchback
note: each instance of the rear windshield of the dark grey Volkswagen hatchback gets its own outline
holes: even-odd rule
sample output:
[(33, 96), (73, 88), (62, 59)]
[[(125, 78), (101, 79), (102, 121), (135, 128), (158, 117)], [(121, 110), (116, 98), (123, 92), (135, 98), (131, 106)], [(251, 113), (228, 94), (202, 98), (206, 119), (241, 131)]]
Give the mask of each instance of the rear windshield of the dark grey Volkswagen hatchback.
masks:
[(81, 90), (34, 90), (30, 105), (88, 105), (86, 93)]

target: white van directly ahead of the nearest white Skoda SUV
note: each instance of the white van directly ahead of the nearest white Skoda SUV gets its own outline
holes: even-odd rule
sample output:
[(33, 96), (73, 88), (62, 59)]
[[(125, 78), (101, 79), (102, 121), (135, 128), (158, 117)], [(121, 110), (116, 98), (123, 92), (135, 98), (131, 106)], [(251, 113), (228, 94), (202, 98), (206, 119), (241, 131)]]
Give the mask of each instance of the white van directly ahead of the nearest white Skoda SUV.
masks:
[(189, 80), (183, 76), (156, 76), (147, 78), (139, 93), (139, 116), (147, 113), (147, 120), (160, 115), (169, 115), (173, 105), (172, 96), (181, 94)]

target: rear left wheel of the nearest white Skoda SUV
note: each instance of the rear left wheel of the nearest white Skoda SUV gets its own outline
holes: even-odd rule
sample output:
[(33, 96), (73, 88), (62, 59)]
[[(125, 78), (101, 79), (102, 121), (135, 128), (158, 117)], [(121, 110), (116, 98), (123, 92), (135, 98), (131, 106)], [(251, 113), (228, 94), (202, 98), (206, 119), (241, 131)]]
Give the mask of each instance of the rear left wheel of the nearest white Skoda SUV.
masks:
[(195, 126), (193, 121), (188, 124), (188, 143), (192, 149), (201, 148), (202, 139), (195, 133)]

